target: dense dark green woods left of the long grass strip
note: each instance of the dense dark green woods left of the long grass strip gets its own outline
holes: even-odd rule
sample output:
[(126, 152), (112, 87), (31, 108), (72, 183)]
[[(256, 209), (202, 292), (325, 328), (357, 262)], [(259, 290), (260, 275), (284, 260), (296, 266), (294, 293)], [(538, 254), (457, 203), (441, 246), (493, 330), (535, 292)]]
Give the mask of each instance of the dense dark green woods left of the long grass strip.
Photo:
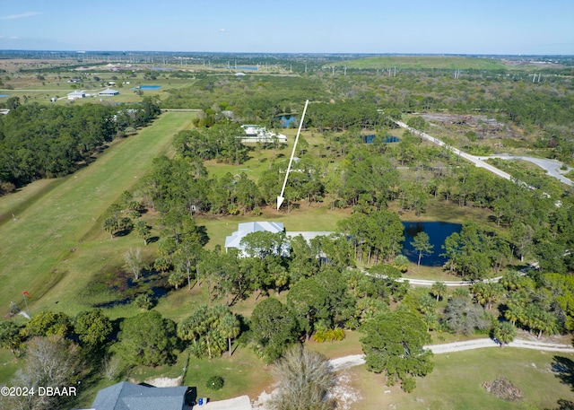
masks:
[(0, 194), (74, 172), (104, 144), (145, 126), (159, 113), (151, 99), (121, 109), (16, 103), (0, 117)]

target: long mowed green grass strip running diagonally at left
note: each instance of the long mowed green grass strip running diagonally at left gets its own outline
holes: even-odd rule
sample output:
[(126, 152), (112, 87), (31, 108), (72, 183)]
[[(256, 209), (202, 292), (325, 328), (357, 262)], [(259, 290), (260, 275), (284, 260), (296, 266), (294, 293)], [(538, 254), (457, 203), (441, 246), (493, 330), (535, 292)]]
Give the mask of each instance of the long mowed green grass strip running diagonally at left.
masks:
[[(72, 291), (85, 284), (76, 277), (83, 272), (68, 272), (62, 264), (82, 249), (89, 232), (100, 227), (100, 216), (108, 206), (150, 170), (153, 158), (170, 151), (172, 136), (191, 126), (193, 116), (162, 114), (137, 135), (112, 144), (97, 161), (64, 182), (53, 181), (57, 188), (49, 190), (44, 182), (39, 188), (30, 187), (39, 197), (27, 208), (26, 199), (36, 195), (26, 194), (29, 187), (15, 194), (21, 202), (11, 196), (0, 199), (4, 214), (11, 217), (16, 209), (16, 220), (9, 218), (0, 225), (1, 313), (7, 312), (10, 301), (22, 302), (24, 290), (30, 292), (33, 303), (63, 279)], [(10, 205), (3, 206), (4, 201)]]

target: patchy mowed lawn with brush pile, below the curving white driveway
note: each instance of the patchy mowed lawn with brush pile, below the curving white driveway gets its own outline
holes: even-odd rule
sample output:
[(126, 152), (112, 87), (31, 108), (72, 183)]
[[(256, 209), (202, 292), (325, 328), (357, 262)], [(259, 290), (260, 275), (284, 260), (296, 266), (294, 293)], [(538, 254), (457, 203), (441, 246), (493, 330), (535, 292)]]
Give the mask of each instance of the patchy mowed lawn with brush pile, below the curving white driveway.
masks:
[[(435, 368), (417, 379), (413, 393), (397, 384), (385, 386), (385, 376), (362, 365), (348, 371), (352, 393), (360, 397), (351, 408), (378, 410), (518, 410), (558, 408), (559, 399), (574, 400), (572, 386), (561, 383), (552, 371), (554, 355), (574, 359), (574, 354), (538, 352), (529, 349), (491, 348), (437, 354)], [(570, 370), (571, 371), (571, 370)], [(483, 382), (506, 378), (523, 392), (523, 399), (507, 402), (492, 396)], [(386, 390), (390, 393), (385, 394)]]

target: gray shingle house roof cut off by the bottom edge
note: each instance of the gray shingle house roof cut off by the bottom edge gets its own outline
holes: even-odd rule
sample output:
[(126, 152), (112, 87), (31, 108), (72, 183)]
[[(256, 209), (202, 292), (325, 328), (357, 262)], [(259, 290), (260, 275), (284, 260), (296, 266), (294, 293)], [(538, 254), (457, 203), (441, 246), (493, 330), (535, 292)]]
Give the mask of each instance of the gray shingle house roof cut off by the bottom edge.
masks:
[(122, 381), (102, 388), (94, 400), (93, 410), (184, 410), (187, 387), (155, 388)]

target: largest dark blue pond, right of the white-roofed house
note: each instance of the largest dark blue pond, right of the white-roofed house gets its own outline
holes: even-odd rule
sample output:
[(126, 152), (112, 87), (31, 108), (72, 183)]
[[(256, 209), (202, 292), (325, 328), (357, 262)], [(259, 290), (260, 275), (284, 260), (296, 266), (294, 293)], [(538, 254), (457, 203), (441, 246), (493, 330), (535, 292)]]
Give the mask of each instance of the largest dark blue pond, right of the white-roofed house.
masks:
[(447, 262), (446, 257), (439, 257), (444, 252), (442, 245), (448, 236), (454, 232), (460, 232), (462, 225), (460, 223), (450, 222), (403, 222), (404, 226), (404, 248), (403, 255), (408, 259), (417, 263), (419, 259), (418, 252), (413, 248), (411, 242), (419, 232), (426, 232), (431, 240), (431, 245), (434, 246), (431, 255), (423, 255), (421, 265), (423, 266), (443, 266)]

